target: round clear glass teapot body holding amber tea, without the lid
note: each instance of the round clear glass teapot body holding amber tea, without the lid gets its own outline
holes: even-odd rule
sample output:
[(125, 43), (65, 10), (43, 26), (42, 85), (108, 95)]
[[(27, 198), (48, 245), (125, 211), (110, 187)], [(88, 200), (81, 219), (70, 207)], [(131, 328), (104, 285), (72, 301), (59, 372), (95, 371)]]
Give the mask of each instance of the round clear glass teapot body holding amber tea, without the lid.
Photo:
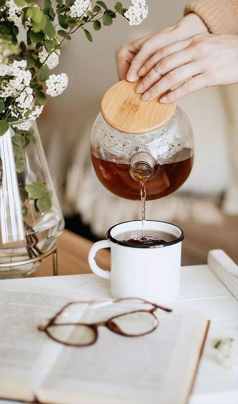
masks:
[(177, 107), (173, 117), (159, 129), (141, 135), (112, 128), (99, 114), (91, 134), (95, 172), (111, 192), (128, 199), (141, 198), (140, 181), (130, 173), (132, 161), (143, 155), (153, 158), (153, 175), (146, 183), (147, 200), (178, 189), (193, 165), (193, 136), (184, 112)]

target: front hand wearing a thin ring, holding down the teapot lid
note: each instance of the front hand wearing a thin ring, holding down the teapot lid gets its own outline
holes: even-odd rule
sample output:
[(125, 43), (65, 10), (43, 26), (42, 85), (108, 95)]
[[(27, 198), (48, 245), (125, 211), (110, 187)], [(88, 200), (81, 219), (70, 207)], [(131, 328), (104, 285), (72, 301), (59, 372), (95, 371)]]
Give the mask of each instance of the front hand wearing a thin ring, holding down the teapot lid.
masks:
[(136, 92), (147, 101), (182, 83), (164, 95), (162, 103), (204, 87), (237, 83), (238, 36), (195, 35), (172, 43), (147, 60), (139, 75), (145, 77)]

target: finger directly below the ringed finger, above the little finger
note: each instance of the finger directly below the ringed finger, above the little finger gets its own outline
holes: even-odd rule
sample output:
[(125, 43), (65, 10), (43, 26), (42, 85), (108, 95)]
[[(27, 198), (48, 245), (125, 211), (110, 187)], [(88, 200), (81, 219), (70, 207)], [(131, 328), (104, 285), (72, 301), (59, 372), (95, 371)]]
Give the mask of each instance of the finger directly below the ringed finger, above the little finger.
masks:
[(188, 80), (190, 77), (199, 73), (201, 73), (200, 65), (195, 62), (171, 70), (168, 74), (163, 76), (159, 82), (146, 91), (142, 95), (142, 99), (145, 101), (151, 101), (163, 92), (168, 91), (171, 87), (174, 87), (182, 81)]

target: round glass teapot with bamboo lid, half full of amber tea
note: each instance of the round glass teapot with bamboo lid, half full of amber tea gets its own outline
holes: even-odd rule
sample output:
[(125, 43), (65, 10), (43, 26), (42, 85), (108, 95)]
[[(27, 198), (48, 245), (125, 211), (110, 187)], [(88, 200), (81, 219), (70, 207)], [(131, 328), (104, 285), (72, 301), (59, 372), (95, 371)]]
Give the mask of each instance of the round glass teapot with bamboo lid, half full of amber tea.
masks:
[[(147, 200), (178, 189), (193, 164), (193, 136), (174, 103), (142, 101), (137, 83), (123, 80), (104, 95), (91, 134), (92, 161), (101, 183), (128, 199)], [(125, 90), (126, 89), (126, 90)]]

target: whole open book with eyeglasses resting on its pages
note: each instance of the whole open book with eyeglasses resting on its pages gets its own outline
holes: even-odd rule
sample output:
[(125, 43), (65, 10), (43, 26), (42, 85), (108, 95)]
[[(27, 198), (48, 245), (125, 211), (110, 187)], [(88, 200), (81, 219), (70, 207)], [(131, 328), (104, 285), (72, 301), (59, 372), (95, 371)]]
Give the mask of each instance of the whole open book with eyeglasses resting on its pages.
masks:
[[(196, 310), (158, 310), (159, 327), (151, 334), (130, 338), (99, 327), (95, 344), (67, 347), (37, 326), (68, 301), (89, 298), (86, 287), (76, 287), (77, 276), (65, 277), (66, 284), (72, 282), (67, 291), (39, 288), (37, 282), (30, 287), (24, 281), (0, 283), (0, 398), (62, 404), (186, 402), (207, 333), (205, 316)], [(86, 320), (85, 310), (78, 313), (79, 321)], [(103, 310), (105, 319), (114, 314), (113, 306)]]

